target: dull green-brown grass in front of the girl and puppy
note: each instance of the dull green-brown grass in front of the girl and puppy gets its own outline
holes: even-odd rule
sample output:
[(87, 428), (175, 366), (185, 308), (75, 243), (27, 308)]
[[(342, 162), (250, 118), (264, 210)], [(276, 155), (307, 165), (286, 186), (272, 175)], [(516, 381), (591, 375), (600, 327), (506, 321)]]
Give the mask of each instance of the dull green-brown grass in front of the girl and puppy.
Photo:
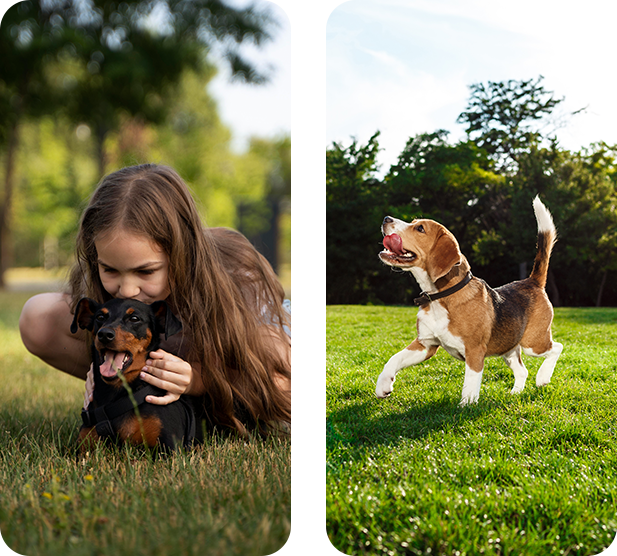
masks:
[(291, 442), (77, 457), (84, 383), (31, 356), (0, 293), (0, 554), (291, 554)]

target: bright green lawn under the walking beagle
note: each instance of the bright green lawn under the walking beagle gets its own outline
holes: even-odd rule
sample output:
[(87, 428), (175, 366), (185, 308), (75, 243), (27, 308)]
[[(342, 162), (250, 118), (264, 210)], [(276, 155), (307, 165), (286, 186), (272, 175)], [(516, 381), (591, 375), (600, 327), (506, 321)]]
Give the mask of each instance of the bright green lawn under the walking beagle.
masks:
[(331, 555), (617, 554), (617, 309), (557, 309), (552, 382), (439, 350), (374, 396), (416, 309), (326, 308), (326, 545)]

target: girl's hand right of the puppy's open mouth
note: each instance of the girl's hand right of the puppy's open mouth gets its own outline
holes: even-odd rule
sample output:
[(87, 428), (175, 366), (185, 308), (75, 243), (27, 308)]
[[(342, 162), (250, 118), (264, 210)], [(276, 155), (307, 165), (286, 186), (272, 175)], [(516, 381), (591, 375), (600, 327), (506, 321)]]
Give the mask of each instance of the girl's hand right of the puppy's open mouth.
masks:
[(139, 376), (144, 382), (166, 390), (164, 396), (146, 396), (146, 401), (155, 405), (175, 402), (181, 394), (188, 392), (193, 378), (189, 363), (162, 349), (150, 352), (150, 359)]

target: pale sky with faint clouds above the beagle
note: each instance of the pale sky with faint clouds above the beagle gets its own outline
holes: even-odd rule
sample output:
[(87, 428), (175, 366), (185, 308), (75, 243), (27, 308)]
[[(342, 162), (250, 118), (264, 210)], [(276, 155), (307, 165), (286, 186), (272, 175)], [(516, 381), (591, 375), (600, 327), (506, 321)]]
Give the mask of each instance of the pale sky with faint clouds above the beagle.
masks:
[(379, 130), (382, 173), (418, 133), (464, 138), (468, 87), (488, 81), (542, 75), (565, 99), (545, 132), (617, 144), (616, 3), (326, 0), (325, 15), (325, 146)]

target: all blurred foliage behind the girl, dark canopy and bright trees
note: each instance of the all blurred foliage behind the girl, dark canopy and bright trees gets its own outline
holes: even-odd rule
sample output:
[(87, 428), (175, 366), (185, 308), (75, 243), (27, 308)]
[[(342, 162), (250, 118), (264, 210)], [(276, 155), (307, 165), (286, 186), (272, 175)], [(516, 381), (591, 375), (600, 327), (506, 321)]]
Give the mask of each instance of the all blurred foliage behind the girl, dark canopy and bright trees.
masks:
[(267, 196), (273, 162), (231, 153), (205, 86), (214, 59), (236, 80), (267, 79), (242, 47), (271, 39), (269, 10), (224, 0), (21, 0), (2, 3), (0, 22), (0, 287), (10, 264), (36, 264), (45, 239), (60, 242), (50, 261), (66, 262), (84, 199), (119, 166), (175, 165), (214, 225), (236, 224), (240, 196)]

